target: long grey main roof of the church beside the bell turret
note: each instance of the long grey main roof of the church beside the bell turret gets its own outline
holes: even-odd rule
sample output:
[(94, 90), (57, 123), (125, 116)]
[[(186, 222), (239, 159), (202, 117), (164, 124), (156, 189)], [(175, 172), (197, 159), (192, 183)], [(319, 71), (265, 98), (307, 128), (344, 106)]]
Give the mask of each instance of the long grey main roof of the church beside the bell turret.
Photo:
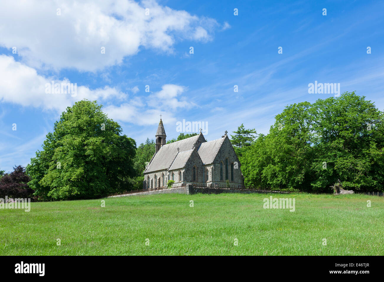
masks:
[[(180, 153), (192, 150), (193, 145), (196, 143), (199, 136), (200, 135), (195, 135), (195, 136), (162, 146), (160, 150), (154, 155), (151, 163), (149, 163), (144, 173), (168, 169), (172, 165), (172, 163), (174, 162), (177, 156), (177, 153), (178, 153), (177, 148), (179, 148)], [(182, 162), (182, 156), (185, 157), (184, 154), (180, 155), (180, 159), (178, 158), (177, 163)]]

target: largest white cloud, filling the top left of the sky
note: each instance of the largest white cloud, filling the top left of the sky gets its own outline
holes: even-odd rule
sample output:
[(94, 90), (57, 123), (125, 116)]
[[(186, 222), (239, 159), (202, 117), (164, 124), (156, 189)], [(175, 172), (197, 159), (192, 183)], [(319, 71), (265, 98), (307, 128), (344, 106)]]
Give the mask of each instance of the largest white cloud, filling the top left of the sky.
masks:
[(211, 40), (218, 26), (154, 0), (13, 0), (2, 3), (0, 19), (0, 46), (16, 47), (28, 66), (81, 71), (119, 64), (140, 46), (172, 53), (176, 40)]

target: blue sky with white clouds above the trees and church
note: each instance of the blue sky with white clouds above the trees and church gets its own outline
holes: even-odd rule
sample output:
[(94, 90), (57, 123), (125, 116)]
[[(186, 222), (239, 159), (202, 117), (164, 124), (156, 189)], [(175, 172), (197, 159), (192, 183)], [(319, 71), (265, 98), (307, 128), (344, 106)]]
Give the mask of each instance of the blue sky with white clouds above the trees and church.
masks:
[[(137, 145), (154, 138), (160, 114), (167, 139), (183, 119), (207, 122), (207, 140), (242, 123), (266, 134), (286, 105), (334, 96), (308, 94), (314, 81), (340, 83), (384, 110), (383, 2), (18, 2), (0, 10), (6, 171), (27, 165), (83, 98), (103, 104)], [(76, 83), (76, 97), (46, 94), (52, 80)]]

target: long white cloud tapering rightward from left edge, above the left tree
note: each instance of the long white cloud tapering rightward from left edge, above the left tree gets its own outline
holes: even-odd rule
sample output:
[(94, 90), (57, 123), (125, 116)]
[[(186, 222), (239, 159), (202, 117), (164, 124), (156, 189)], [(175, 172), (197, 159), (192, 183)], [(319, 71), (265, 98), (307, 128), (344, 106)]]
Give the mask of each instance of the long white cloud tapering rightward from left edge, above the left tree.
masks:
[(116, 88), (103, 87), (89, 89), (86, 86), (77, 86), (76, 96), (71, 94), (47, 94), (46, 84), (76, 83), (64, 79), (62, 81), (53, 77), (46, 78), (37, 74), (36, 70), (15, 61), (12, 56), (0, 55), (0, 101), (18, 104), (21, 106), (40, 107), (43, 110), (61, 112), (76, 101), (107, 100), (111, 97), (124, 99), (126, 94)]

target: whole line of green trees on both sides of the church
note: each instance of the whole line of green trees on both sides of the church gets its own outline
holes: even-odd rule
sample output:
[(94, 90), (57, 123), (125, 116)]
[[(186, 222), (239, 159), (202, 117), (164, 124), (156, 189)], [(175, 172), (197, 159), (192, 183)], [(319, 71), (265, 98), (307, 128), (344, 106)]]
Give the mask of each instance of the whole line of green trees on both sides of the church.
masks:
[[(383, 113), (364, 96), (345, 92), (286, 106), (266, 135), (242, 124), (231, 142), (247, 186), (331, 192), (329, 186), (340, 179), (350, 190), (383, 191), (383, 130)], [(0, 171), (0, 198), (72, 200), (141, 189), (154, 140), (136, 146), (121, 133), (96, 101), (76, 102), (26, 169)], [(167, 143), (194, 135), (180, 134)]]

